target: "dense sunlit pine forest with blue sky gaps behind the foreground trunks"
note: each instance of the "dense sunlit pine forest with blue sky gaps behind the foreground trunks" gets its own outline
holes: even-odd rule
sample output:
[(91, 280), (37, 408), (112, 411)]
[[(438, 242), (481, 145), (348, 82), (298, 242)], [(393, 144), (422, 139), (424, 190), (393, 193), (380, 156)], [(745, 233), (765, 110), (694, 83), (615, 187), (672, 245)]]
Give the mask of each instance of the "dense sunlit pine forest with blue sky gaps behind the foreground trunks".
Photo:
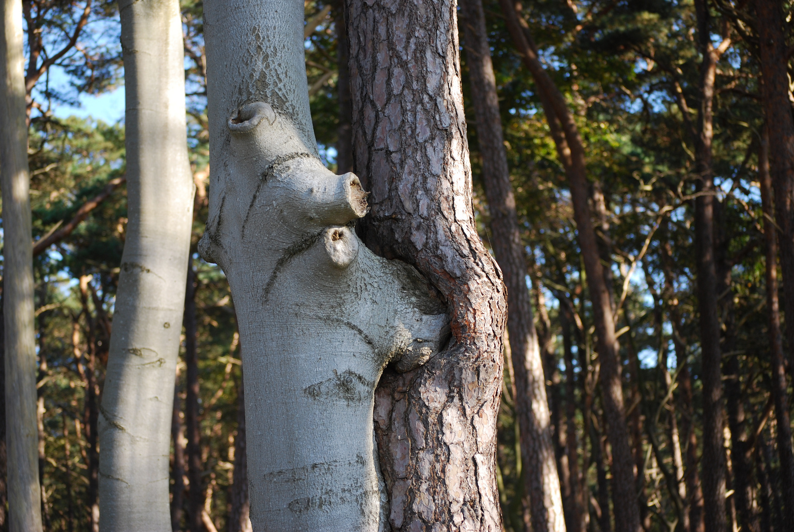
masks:
[[(93, 531), (98, 418), (127, 222), (125, 127), (123, 119), (60, 110), (123, 85), (119, 13), (103, 0), (22, 3), (44, 530)], [(314, 130), (337, 173), (354, 170), (356, 149), (342, 3), (306, 0), (304, 33)], [(174, 380), (172, 527), (239, 532), (250, 530), (240, 341), (225, 276), (198, 255), (208, 216), (206, 55), (202, 2), (181, 6), (196, 192)], [(794, 74), (794, 5), (482, 7), (567, 530), (622, 532), (620, 515), (631, 505), (647, 531), (792, 530), (794, 207), (778, 176), (794, 164), (784, 160), (794, 156), (794, 131), (785, 130), (794, 96), (789, 87), (781, 105), (771, 80), (782, 72), (790, 83)], [(495, 249), (491, 153), (480, 148), (492, 139), (479, 127), (470, 68), (482, 49), (468, 31), (475, 24), (461, 6), (474, 210), (480, 238)], [(588, 277), (581, 204), (602, 283)], [(604, 293), (595, 297), (594, 286)], [(599, 348), (603, 308), (595, 300), (614, 322), (616, 367)], [(505, 345), (499, 503), (504, 530), (529, 531), (531, 466), (526, 449), (522, 460), (518, 413), (526, 387), (516, 385), (526, 368), (515, 367)], [(615, 412), (627, 454), (611, 443)], [(616, 490), (621, 464), (635, 481)], [(2, 484), (3, 522), (5, 493)]]

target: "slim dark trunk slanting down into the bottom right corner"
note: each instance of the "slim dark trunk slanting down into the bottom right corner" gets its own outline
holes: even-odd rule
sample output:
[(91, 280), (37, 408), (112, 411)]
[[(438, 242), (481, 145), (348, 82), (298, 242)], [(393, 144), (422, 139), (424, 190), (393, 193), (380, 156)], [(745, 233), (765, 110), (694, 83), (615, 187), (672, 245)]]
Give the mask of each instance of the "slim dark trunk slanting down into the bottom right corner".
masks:
[[(792, 137), (792, 141), (794, 141), (794, 137)], [(772, 366), (772, 397), (777, 418), (777, 453), (781, 459), (780, 474), (785, 500), (784, 519), (786, 519), (786, 526), (791, 528), (794, 526), (794, 453), (792, 453), (788, 384), (781, 338), (780, 303), (777, 300), (777, 231), (775, 224), (772, 223), (775, 206), (772, 197), (772, 175), (769, 172), (769, 145), (769, 135), (765, 132), (761, 138), (758, 180), (761, 182), (761, 204), (764, 210), (766, 241), (766, 308), (769, 311), (769, 354)]]

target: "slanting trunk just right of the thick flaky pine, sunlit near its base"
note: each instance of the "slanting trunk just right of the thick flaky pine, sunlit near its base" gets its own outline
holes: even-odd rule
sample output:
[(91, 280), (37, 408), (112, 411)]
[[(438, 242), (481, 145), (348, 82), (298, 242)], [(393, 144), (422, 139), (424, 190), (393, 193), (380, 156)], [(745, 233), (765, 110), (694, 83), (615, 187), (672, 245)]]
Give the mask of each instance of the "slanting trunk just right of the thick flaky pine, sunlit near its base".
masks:
[(483, 183), (491, 214), (491, 245), (507, 287), (507, 330), (515, 371), (515, 408), (521, 431), (524, 489), (530, 497), (535, 532), (560, 532), (565, 530), (565, 516), (552, 444), (553, 426), (530, 291), (526, 288), (526, 251), (518, 230), (491, 48), (480, 0), (461, 1), (461, 25), (482, 156)]

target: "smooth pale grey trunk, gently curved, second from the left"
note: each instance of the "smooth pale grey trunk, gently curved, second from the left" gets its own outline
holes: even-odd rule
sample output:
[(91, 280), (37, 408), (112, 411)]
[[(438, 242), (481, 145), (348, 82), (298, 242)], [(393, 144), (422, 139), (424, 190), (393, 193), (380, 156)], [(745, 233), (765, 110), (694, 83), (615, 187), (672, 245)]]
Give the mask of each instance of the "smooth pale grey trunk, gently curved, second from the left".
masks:
[(120, 2), (127, 237), (100, 407), (101, 530), (171, 530), (168, 455), (190, 248), (182, 25), (176, 0)]

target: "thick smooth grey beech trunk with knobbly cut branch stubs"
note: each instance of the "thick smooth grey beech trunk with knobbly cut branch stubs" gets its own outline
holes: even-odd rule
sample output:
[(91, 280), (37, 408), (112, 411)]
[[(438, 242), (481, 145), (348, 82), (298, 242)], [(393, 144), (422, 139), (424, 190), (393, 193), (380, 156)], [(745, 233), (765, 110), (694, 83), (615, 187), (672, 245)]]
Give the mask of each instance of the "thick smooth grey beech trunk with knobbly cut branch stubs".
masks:
[(445, 308), (351, 229), (367, 195), (317, 156), (302, 3), (212, 0), (204, 21), (210, 215), (198, 249), (237, 310), (253, 529), (387, 530), (375, 387), (386, 364), (407, 371), (437, 353)]

